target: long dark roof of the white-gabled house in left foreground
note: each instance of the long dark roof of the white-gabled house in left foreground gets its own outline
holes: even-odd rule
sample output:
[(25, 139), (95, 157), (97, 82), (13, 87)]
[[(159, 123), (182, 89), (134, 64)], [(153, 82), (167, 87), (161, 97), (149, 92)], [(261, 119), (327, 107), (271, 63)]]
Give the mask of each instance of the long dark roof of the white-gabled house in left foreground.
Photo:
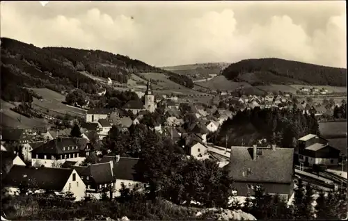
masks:
[(63, 190), (72, 169), (56, 167), (26, 167), (13, 165), (6, 178), (1, 181), (5, 186), (40, 188), (45, 190)]

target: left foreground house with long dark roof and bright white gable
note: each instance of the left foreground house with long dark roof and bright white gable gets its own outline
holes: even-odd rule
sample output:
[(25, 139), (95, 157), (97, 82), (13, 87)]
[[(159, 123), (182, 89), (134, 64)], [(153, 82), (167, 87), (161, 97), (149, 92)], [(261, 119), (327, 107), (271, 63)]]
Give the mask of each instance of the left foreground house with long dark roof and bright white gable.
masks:
[(17, 195), (19, 188), (26, 187), (39, 193), (72, 193), (77, 201), (84, 198), (86, 191), (84, 182), (75, 170), (25, 165), (13, 165), (1, 185), (10, 195)]

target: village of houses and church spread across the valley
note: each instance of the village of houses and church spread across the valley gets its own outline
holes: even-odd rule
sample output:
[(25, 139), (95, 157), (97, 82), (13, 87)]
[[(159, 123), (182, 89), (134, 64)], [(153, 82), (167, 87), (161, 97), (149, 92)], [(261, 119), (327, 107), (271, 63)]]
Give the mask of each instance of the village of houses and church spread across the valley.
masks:
[[(9, 195), (18, 195), (25, 186), (39, 193), (72, 193), (76, 200), (86, 197), (101, 199), (103, 195), (117, 197), (123, 185), (145, 190), (148, 184), (136, 176), (135, 167), (141, 165), (141, 158), (115, 155), (107, 147), (103, 151), (96, 143), (109, 136), (113, 126), (127, 132), (139, 124), (144, 115), (154, 113), (157, 106), (165, 107), (164, 122), (154, 122), (152, 130), (180, 144), (188, 158), (212, 159), (219, 167), (227, 169), (234, 181), (232, 192), (226, 193), (231, 197), (247, 197), (264, 188), (267, 193), (279, 194), (291, 202), (298, 165), (302, 165), (302, 170), (303, 165), (340, 166), (347, 159), (347, 151), (332, 146), (328, 140), (315, 134), (299, 138), (296, 148), (276, 145), (228, 147), (227, 140), (225, 147), (216, 146), (211, 141), (212, 134), (237, 111), (295, 108), (296, 105), (294, 97), (289, 94), (219, 97), (221, 100), (210, 106), (180, 104), (177, 97), (155, 99), (149, 80), (144, 104), (129, 101), (122, 110), (90, 108), (85, 122), (75, 122), (72, 128), (47, 131), (2, 129), (1, 184), (6, 186)], [(322, 105), (307, 103), (302, 101), (296, 107), (303, 115), (317, 117), (332, 115), (333, 108), (340, 105), (335, 104), (326, 110)], [(192, 122), (184, 120), (183, 106), (191, 109)], [(132, 116), (121, 117), (121, 111), (130, 112)], [(74, 136), (77, 128), (79, 136)], [(86, 158), (91, 155), (97, 156), (96, 162), (86, 163)], [(347, 183), (347, 177), (345, 179)]]

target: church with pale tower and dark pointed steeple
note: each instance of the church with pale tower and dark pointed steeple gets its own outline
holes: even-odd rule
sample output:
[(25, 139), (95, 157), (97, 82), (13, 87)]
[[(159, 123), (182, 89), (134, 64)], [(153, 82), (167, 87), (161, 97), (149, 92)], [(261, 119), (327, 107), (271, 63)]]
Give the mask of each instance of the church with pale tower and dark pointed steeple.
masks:
[(148, 85), (145, 91), (145, 104), (140, 101), (129, 101), (122, 108), (126, 111), (132, 111), (134, 115), (138, 114), (140, 111), (149, 111), (150, 113), (155, 112), (157, 105), (155, 104), (155, 95), (152, 93), (151, 82), (148, 80)]

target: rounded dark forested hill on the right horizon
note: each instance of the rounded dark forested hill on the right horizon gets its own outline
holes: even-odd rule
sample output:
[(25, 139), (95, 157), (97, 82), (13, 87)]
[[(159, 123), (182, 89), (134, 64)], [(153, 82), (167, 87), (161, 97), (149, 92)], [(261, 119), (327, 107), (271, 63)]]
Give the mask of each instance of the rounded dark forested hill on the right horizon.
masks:
[(346, 86), (345, 68), (326, 67), (279, 58), (241, 60), (232, 63), (222, 74), (232, 81), (253, 85), (266, 83), (301, 83), (310, 85)]

